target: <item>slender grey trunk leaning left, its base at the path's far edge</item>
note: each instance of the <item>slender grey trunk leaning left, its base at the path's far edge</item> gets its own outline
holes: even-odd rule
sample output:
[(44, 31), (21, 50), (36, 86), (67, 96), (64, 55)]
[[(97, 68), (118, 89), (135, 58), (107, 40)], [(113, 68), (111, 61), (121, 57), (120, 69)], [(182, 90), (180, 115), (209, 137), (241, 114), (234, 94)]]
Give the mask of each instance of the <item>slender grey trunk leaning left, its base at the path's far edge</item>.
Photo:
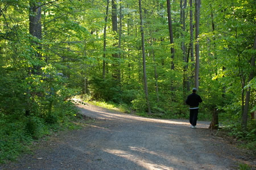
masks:
[(148, 114), (151, 114), (150, 102), (148, 100), (148, 89), (147, 89), (146, 55), (145, 55), (145, 45), (144, 45), (144, 31), (143, 31), (143, 18), (142, 18), (141, 0), (139, 0), (139, 17), (141, 18), (141, 42), (142, 42), (144, 90), (145, 90)]

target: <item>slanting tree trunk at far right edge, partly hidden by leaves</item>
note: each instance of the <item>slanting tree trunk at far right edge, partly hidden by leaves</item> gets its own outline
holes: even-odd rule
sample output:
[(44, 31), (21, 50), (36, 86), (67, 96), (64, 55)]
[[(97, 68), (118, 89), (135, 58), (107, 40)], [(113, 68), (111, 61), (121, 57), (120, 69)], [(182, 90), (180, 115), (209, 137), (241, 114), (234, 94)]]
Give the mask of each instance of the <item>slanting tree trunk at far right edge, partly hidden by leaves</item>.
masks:
[[(254, 37), (254, 45), (253, 45), (253, 49), (256, 49), (256, 35)], [(249, 75), (249, 80), (248, 83), (253, 80), (254, 76), (255, 76), (255, 56), (251, 56), (251, 72)], [(242, 114), (242, 128), (244, 130), (246, 130), (247, 128), (247, 117), (248, 117), (248, 112), (249, 112), (249, 104), (250, 104), (250, 90), (251, 87), (247, 88), (246, 90), (246, 95), (245, 95), (245, 106), (243, 107), (243, 114)]]

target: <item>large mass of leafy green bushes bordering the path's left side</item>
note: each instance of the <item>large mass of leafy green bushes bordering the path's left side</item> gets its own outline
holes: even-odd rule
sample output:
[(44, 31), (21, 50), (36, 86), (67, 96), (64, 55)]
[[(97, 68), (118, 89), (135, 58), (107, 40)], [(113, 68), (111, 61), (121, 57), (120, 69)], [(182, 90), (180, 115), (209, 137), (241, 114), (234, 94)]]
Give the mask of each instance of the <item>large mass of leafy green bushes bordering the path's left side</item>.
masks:
[[(31, 140), (69, 127), (77, 113), (68, 100), (74, 93), (65, 77), (49, 64), (40, 74), (0, 68), (0, 162), (13, 160)], [(11, 106), (11, 107), (10, 107)]]

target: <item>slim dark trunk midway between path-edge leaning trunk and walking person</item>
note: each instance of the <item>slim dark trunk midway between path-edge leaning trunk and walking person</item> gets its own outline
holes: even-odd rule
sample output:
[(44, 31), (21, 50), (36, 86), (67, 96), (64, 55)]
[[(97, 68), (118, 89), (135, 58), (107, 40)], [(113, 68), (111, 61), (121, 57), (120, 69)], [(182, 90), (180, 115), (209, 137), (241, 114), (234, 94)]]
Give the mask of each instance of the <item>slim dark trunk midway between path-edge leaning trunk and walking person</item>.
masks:
[[(168, 27), (169, 27), (169, 34), (170, 34), (170, 43), (171, 43), (171, 70), (174, 70), (174, 32), (172, 31), (172, 18), (171, 18), (171, 3), (170, 0), (166, 0), (167, 2), (167, 13), (168, 13)], [(174, 87), (171, 82), (171, 91), (174, 90)]]

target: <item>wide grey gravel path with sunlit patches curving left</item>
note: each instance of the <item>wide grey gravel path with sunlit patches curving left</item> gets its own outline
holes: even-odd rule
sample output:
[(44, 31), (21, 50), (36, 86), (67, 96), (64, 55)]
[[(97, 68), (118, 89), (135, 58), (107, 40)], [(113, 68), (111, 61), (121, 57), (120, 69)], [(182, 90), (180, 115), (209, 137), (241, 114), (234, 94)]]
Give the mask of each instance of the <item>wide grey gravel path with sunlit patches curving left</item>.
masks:
[[(93, 119), (79, 130), (58, 132), (33, 154), (0, 169), (256, 169), (255, 155), (188, 120), (152, 119), (93, 105), (78, 105)], [(88, 122), (88, 121), (87, 121)]]

